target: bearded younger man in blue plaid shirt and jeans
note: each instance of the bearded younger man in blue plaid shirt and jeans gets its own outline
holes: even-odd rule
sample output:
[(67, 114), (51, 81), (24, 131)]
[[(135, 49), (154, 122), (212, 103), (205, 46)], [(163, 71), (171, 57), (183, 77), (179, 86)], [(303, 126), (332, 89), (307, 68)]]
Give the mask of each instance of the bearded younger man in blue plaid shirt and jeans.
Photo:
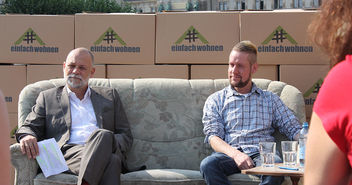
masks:
[[(229, 56), (230, 85), (210, 95), (203, 109), (205, 143), (214, 152), (200, 171), (208, 185), (230, 185), (227, 176), (260, 166), (259, 142), (275, 141), (275, 129), (298, 140), (301, 124), (280, 98), (258, 88), (257, 48), (250, 41), (235, 45)], [(277, 152), (278, 153), (278, 152)], [(276, 154), (275, 162), (282, 162)], [(261, 176), (261, 184), (281, 184), (283, 177)]]

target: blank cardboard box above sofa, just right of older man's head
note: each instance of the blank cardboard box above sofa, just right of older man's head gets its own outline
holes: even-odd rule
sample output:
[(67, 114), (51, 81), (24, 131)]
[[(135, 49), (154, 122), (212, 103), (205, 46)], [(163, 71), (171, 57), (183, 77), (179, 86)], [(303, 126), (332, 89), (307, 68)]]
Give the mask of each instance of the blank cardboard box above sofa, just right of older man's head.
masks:
[(187, 65), (107, 65), (107, 78), (188, 79)]

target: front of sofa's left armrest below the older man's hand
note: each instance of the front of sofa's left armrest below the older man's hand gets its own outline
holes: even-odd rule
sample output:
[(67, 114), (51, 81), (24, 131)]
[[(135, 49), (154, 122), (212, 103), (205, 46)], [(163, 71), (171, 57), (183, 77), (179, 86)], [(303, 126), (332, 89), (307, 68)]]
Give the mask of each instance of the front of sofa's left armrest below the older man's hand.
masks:
[(10, 146), (11, 163), (15, 168), (15, 185), (33, 185), (33, 179), (38, 172), (38, 164), (34, 159), (28, 159), (21, 152), (20, 144)]

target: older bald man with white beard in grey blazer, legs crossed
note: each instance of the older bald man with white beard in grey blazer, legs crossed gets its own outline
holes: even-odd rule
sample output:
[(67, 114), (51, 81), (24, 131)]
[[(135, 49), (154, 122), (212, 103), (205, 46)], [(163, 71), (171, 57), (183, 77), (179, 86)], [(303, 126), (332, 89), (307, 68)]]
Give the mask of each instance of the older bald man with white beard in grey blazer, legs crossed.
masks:
[(66, 85), (39, 94), (16, 139), (35, 158), (37, 141), (55, 138), (78, 185), (118, 185), (132, 134), (117, 91), (88, 86), (93, 65), (89, 50), (72, 50), (63, 64)]

